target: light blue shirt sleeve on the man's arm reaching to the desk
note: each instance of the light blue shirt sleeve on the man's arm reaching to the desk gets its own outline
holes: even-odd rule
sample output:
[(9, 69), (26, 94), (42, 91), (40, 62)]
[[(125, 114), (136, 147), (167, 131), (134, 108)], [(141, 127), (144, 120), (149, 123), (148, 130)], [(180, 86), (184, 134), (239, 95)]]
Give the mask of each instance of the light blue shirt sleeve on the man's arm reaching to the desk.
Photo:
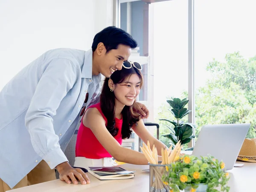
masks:
[(70, 60), (53, 59), (38, 82), (25, 116), (32, 146), (51, 169), (68, 161), (58, 143), (52, 117), (61, 100), (75, 84), (76, 76), (76, 68)]

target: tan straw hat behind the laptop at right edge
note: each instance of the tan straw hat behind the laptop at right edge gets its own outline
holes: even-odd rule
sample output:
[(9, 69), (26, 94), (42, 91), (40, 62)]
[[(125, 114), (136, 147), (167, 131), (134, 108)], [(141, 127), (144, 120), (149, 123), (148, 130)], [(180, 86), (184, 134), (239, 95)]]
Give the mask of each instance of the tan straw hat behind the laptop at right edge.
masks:
[(256, 138), (244, 140), (237, 160), (256, 163)]

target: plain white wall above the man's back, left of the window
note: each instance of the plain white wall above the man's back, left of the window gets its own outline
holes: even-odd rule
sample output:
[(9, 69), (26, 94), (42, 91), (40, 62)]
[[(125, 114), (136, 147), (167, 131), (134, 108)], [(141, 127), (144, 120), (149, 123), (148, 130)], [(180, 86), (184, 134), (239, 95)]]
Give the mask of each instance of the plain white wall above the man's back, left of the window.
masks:
[(48, 49), (90, 49), (110, 25), (113, 0), (0, 0), (0, 90)]

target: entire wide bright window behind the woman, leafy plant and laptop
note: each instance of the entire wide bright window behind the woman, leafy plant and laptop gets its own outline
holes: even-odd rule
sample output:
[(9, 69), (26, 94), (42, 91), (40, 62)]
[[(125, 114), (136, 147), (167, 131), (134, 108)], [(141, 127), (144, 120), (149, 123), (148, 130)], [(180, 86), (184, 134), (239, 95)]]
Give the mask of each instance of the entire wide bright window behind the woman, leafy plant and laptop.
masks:
[[(142, 1), (135, 2), (143, 5)], [(131, 32), (133, 22), (126, 17), (131, 24), (127, 28), (122, 18), (129, 10), (135, 15), (135, 2), (121, 5), (121, 27)], [(148, 66), (153, 69), (148, 78), (154, 79), (148, 83), (147, 100), (154, 103), (154, 122), (160, 124), (160, 135), (170, 132), (163, 121), (158, 121), (172, 120), (166, 99), (188, 97), (193, 111), (183, 120), (198, 125), (196, 138), (203, 125), (245, 122), (251, 123), (247, 137), (256, 137), (255, 6), (251, 0), (166, 0), (148, 4), (145, 36), (149, 37)], [(137, 17), (137, 22), (141, 18), (144, 15)], [(152, 85), (154, 91), (150, 93)], [(163, 137), (160, 140), (167, 145), (170, 141)]]

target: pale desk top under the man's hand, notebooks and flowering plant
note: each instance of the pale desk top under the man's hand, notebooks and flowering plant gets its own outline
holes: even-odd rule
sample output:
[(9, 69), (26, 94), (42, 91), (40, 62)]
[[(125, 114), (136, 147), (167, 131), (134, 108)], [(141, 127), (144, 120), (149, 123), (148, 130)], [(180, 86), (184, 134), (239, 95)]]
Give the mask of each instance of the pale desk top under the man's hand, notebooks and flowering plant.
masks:
[[(230, 192), (256, 192), (256, 163), (237, 163), (244, 163), (244, 166), (228, 171)], [(149, 192), (149, 173), (142, 171), (148, 169), (148, 166), (124, 164), (121, 167), (136, 170), (135, 177), (125, 180), (98, 180), (89, 174), (91, 183), (87, 185), (66, 184), (61, 180), (53, 180), (8, 192)]]

